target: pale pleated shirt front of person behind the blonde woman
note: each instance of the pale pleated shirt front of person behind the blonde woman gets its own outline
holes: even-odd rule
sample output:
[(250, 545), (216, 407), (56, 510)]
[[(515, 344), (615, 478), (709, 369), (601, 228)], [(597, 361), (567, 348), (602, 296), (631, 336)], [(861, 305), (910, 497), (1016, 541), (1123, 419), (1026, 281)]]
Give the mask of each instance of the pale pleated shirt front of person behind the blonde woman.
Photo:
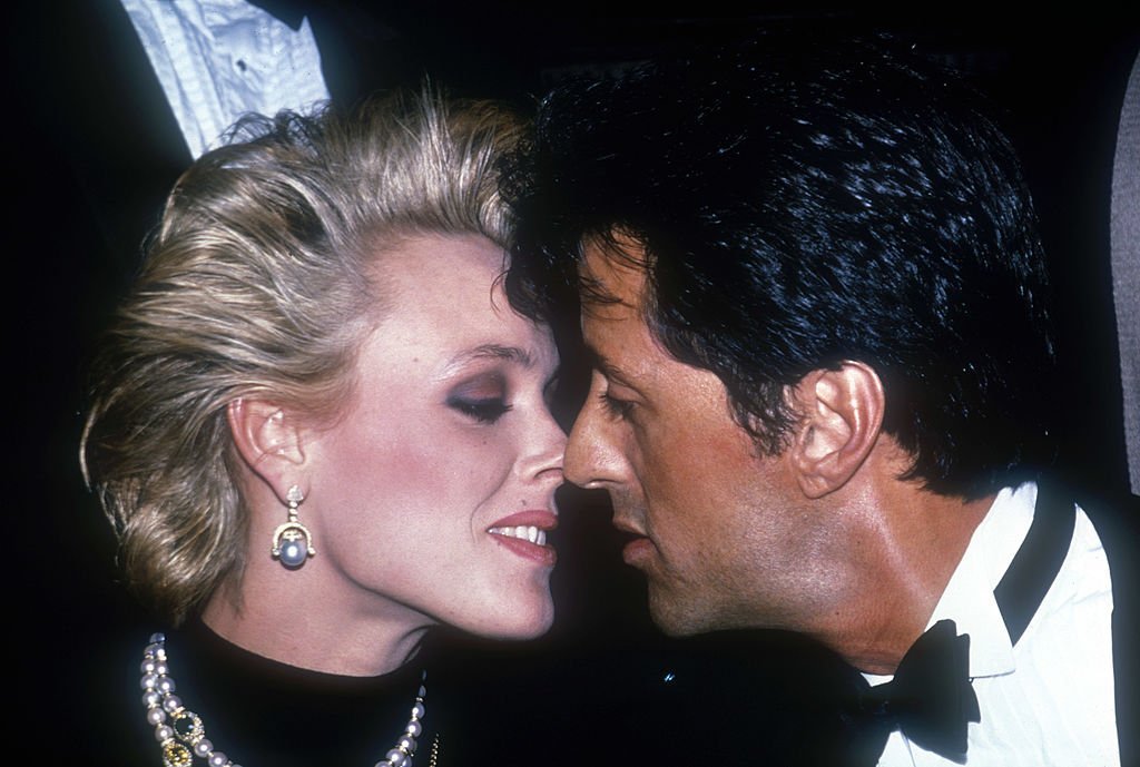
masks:
[(293, 31), (245, 0), (122, 0), (194, 157), (249, 112), (328, 99), (309, 19)]

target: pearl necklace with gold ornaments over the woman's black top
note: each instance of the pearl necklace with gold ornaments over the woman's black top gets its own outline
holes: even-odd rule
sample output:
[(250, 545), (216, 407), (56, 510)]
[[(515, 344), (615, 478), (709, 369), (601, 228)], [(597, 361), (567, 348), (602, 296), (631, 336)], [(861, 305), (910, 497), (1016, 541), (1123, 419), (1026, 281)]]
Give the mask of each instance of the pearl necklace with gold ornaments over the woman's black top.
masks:
[[(202, 718), (186, 709), (181, 699), (174, 695), (174, 680), (170, 677), (170, 668), (166, 664), (165, 643), (166, 637), (162, 634), (150, 636), (150, 642), (142, 652), (140, 667), (142, 679), (139, 683), (144, 691), (146, 720), (154, 727), (155, 740), (162, 746), (163, 765), (190, 767), (194, 757), (199, 757), (205, 759), (210, 767), (241, 767), (221, 751), (214, 750), (213, 743), (206, 739)], [(423, 683), (426, 678), (427, 672), (424, 671), (416, 702), (412, 705), (412, 718), (408, 719), (404, 734), (375, 767), (412, 767), (416, 739), (423, 733), (423, 725), (420, 721), (424, 717), (424, 696), (427, 693)]]

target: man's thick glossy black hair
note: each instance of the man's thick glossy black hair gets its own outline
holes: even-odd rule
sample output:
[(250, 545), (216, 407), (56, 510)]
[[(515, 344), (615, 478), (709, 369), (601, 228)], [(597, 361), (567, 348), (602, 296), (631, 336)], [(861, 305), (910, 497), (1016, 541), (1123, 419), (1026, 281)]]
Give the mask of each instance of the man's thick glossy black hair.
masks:
[(980, 97), (896, 48), (759, 36), (556, 88), (505, 181), (512, 302), (605, 300), (583, 246), (632, 237), (652, 333), (762, 450), (795, 423), (787, 386), (860, 360), (907, 478), (980, 497), (1033, 476), (1053, 344), (1029, 193)]

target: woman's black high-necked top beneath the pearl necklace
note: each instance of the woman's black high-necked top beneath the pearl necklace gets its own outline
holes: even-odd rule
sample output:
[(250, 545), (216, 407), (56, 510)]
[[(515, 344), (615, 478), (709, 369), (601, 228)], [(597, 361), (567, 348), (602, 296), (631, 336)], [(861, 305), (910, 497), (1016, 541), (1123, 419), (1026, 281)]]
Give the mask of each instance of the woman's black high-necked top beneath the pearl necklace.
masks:
[[(198, 715), (215, 750), (245, 767), (373, 767), (404, 734), (421, 686), (423, 653), (391, 674), (344, 677), (295, 668), (262, 658), (222, 639), (201, 620), (164, 631), (169, 676), (182, 705)], [(88, 697), (88, 764), (158, 767), (162, 748), (146, 721), (142, 652), (149, 636), (133, 647), (109, 653)], [(423, 734), (415, 764), (427, 765), (432, 748), (440, 765), (448, 741), (441, 705), (426, 682)], [(100, 707), (101, 703), (101, 707)], [(91, 727), (90, 725), (95, 725)], [(92, 756), (88, 750), (87, 756)], [(195, 765), (205, 765), (195, 759)]]

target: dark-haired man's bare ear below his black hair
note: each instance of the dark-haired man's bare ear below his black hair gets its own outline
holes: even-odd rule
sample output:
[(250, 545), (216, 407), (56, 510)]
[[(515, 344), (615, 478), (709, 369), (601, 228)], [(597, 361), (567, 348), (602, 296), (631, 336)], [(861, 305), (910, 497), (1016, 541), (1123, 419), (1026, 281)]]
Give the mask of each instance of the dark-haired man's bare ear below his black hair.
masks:
[(808, 498), (838, 490), (858, 471), (882, 429), (882, 382), (870, 366), (845, 361), (813, 370), (791, 391), (799, 410), (791, 466)]

